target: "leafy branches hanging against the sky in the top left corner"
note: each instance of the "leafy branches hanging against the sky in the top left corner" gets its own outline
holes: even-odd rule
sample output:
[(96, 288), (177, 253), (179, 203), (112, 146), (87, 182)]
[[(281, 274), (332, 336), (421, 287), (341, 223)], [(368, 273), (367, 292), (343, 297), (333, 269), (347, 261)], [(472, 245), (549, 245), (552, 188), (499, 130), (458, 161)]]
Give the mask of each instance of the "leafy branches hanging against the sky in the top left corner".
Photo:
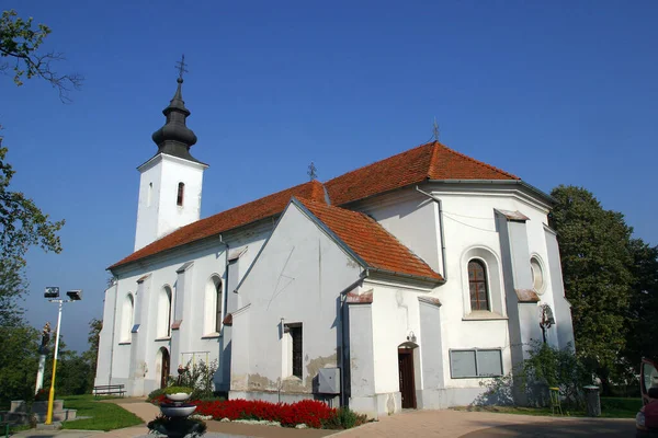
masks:
[(39, 47), (46, 36), (50, 34), (50, 27), (37, 24), (33, 27), (33, 19), (23, 20), (18, 16), (16, 11), (3, 11), (0, 18), (0, 57), (13, 61), (0, 64), (0, 71), (13, 70), (13, 81), (16, 85), (23, 84), (23, 78), (42, 78), (59, 91), (59, 97), (69, 101), (68, 93), (79, 89), (82, 84), (82, 76), (78, 73), (59, 74), (54, 70), (54, 64), (64, 60), (60, 53), (41, 53)]

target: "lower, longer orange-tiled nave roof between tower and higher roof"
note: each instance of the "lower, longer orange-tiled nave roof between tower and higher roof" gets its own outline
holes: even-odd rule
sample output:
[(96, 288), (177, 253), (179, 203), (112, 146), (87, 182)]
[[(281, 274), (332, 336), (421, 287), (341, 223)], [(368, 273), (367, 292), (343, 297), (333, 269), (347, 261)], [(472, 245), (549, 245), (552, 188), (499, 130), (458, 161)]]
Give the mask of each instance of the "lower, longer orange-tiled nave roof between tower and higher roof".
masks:
[(191, 242), (195, 242), (215, 234), (231, 230), (237, 227), (265, 219), (283, 211), (293, 196), (300, 196), (320, 203), (325, 201), (325, 188), (317, 181), (297, 185), (273, 195), (243, 204), (230, 210), (197, 220), (189, 226), (182, 227), (170, 234), (135, 251), (124, 260), (110, 266), (115, 268), (139, 258), (155, 255), (166, 250), (171, 250)]

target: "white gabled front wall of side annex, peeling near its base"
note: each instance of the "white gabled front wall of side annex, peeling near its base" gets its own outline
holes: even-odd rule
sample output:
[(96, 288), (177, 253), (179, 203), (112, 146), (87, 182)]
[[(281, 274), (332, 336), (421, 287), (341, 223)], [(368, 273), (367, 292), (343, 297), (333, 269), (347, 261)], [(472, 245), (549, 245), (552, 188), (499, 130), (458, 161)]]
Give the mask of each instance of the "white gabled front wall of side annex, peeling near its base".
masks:
[[(246, 330), (258, 336), (234, 344), (230, 396), (276, 401), (281, 388), (285, 400), (311, 397), (318, 369), (338, 365), (340, 292), (360, 270), (290, 205), (238, 291), (249, 309), (248, 318), (234, 319), (236, 336), (242, 339)], [(286, 324), (302, 326), (302, 378), (291, 373)]]

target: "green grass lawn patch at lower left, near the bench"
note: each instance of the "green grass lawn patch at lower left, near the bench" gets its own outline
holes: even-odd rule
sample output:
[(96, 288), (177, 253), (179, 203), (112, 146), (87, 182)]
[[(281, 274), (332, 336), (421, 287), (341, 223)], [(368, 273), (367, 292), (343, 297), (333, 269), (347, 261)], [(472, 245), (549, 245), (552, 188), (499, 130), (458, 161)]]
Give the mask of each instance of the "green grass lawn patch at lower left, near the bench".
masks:
[(141, 418), (113, 403), (101, 403), (91, 394), (63, 396), (64, 407), (91, 418), (64, 422), (63, 429), (113, 430), (143, 424)]

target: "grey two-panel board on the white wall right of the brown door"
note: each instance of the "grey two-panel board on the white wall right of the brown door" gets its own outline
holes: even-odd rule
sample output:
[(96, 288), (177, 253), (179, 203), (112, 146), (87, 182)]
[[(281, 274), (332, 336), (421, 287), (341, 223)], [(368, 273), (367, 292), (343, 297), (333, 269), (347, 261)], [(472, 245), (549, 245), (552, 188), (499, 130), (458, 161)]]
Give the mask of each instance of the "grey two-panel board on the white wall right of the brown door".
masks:
[(451, 349), (450, 373), (453, 379), (502, 376), (502, 351), (494, 349)]

